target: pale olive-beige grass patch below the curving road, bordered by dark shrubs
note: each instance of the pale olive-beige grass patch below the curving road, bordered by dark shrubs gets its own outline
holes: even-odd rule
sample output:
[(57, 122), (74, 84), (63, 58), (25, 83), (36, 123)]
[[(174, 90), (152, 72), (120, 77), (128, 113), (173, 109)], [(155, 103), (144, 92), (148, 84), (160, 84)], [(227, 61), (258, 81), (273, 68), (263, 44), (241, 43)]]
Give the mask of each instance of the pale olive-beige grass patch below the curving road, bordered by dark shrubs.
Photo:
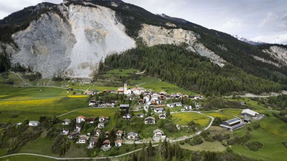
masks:
[(225, 146), (221, 144), (219, 141), (214, 141), (214, 142), (207, 142), (204, 141), (203, 143), (199, 145), (189, 145), (185, 143), (184, 145), (180, 145), (181, 148), (191, 150), (191, 151), (225, 151)]

